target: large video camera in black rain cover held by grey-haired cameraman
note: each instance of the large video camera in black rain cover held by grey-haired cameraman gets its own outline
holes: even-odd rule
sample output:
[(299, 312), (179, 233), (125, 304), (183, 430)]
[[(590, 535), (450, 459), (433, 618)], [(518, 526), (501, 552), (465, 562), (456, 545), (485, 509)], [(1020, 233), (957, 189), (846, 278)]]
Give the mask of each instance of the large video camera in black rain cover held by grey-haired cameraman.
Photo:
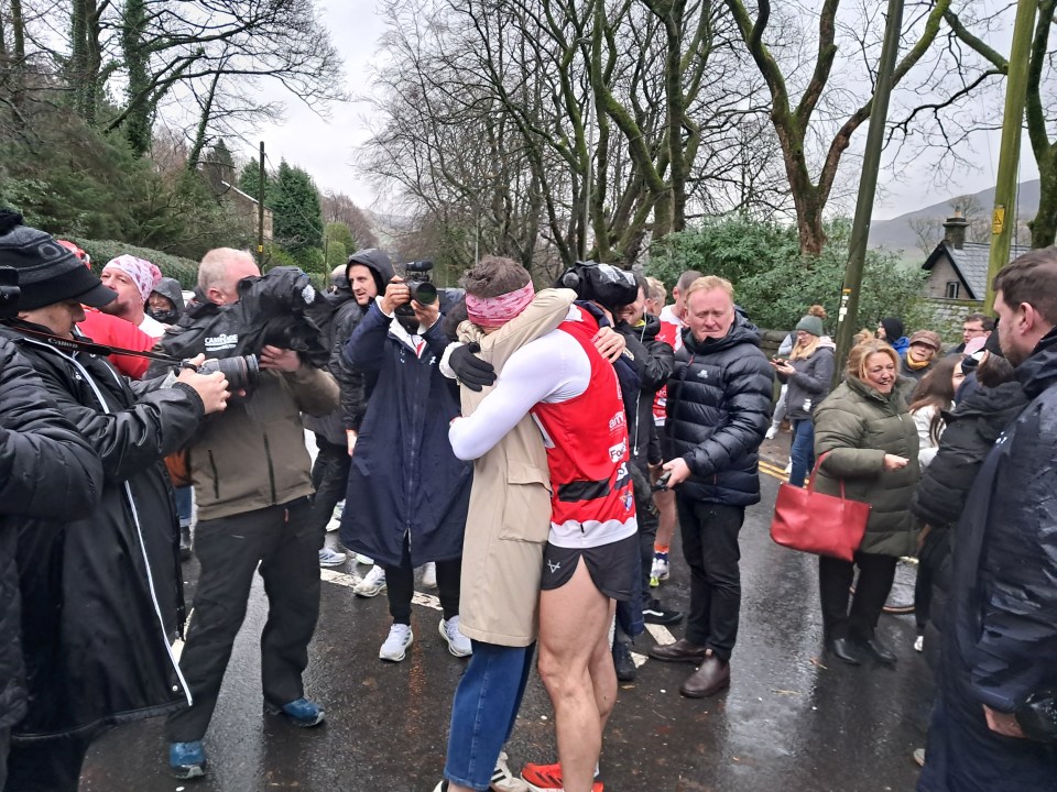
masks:
[(238, 302), (192, 304), (162, 337), (162, 348), (176, 358), (233, 358), (260, 354), (266, 344), (298, 352), (310, 365), (326, 365), (327, 336), (334, 306), (297, 267), (275, 267), (239, 282)]

